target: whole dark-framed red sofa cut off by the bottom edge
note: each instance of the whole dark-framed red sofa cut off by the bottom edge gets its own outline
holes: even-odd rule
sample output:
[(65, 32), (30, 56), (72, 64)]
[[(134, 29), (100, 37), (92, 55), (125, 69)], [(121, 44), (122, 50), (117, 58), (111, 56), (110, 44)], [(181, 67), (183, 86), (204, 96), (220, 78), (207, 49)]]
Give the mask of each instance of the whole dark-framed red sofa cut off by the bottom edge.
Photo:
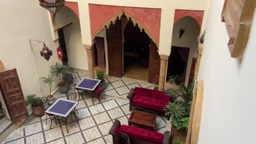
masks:
[(155, 131), (146, 129), (131, 127), (129, 125), (121, 125), (116, 119), (109, 131), (109, 134), (113, 137), (113, 143), (119, 143), (119, 132), (129, 136), (131, 144), (167, 144), (170, 141), (170, 131), (165, 131), (165, 134), (161, 134)]

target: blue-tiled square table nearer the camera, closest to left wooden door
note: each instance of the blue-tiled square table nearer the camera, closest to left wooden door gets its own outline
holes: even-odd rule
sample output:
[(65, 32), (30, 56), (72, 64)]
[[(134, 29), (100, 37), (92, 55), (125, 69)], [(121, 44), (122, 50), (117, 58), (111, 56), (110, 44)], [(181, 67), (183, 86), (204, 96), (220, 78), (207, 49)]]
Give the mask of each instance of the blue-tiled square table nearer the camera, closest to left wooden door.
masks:
[[(63, 117), (64, 119), (60, 119), (60, 118), (54, 118), (54, 119), (59, 119), (60, 121), (64, 122), (66, 124), (66, 128), (67, 128), (68, 117), (72, 116), (72, 115), (77, 117), (77, 115), (75, 115), (75, 111), (73, 111), (73, 109), (75, 108), (75, 106), (78, 105), (78, 103), (79, 103), (78, 101), (72, 101), (72, 100), (67, 100), (67, 99), (58, 99), (55, 101), (55, 103), (53, 105), (51, 105), (45, 111), (45, 113), (50, 113), (52, 115)], [(67, 133), (68, 133), (68, 129), (67, 129)]]

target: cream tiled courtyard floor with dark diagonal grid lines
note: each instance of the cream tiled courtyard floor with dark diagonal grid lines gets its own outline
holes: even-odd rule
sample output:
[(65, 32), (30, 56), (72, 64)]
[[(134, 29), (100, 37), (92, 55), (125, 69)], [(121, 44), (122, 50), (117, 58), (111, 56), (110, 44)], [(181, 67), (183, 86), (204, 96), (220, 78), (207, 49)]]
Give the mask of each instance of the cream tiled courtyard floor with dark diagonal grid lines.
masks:
[[(87, 71), (75, 70), (74, 74), (83, 79), (88, 77)], [(24, 125), (10, 134), (4, 143), (112, 143), (112, 136), (108, 134), (115, 119), (121, 124), (128, 124), (130, 117), (129, 100), (127, 93), (133, 87), (154, 88), (154, 85), (145, 81), (129, 78), (117, 78), (106, 76), (106, 100), (101, 98), (102, 103), (98, 104), (95, 99), (94, 105), (89, 95), (79, 101), (77, 116), (79, 120), (68, 119), (67, 133), (65, 124), (53, 122), (50, 129), (50, 120), (47, 124), (46, 115), (43, 117), (31, 116)], [(176, 89), (166, 88), (167, 92), (177, 93)], [(111, 96), (109, 96), (111, 95)], [(55, 98), (66, 99), (65, 94), (57, 92)], [(170, 130), (170, 122), (166, 117), (158, 116), (155, 129), (159, 133)]]

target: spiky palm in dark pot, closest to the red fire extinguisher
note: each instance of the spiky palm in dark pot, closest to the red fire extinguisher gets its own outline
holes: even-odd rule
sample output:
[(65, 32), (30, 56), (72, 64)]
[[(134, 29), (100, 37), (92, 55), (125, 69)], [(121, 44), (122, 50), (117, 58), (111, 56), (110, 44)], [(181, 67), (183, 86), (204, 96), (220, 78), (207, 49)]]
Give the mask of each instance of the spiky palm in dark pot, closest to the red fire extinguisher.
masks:
[[(69, 91), (68, 82), (61, 80), (61, 75), (65, 75), (67, 73), (67, 66), (63, 64), (56, 63), (55, 65), (51, 65), (50, 74), (53, 76), (58, 76), (60, 78), (60, 82), (58, 83), (59, 91), (61, 93), (66, 93)], [(72, 76), (71, 76), (72, 77)]]

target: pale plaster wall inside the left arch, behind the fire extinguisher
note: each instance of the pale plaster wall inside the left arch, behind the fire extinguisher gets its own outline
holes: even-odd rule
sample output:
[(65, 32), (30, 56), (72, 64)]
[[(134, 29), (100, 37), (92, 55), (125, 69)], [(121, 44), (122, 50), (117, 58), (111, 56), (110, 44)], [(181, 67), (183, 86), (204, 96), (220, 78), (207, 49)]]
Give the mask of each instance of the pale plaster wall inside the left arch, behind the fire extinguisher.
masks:
[(57, 28), (66, 26), (71, 22), (72, 25), (63, 28), (68, 65), (72, 68), (88, 70), (87, 53), (82, 43), (79, 19), (73, 10), (68, 7), (63, 7), (59, 13), (56, 14)]

